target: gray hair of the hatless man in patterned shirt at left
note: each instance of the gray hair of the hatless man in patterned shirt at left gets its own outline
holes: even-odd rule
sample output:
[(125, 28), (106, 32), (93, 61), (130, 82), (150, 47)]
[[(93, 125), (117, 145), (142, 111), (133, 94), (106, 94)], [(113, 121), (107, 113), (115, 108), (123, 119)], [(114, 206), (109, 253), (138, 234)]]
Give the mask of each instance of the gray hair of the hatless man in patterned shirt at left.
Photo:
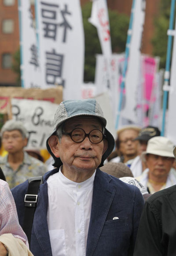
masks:
[(8, 120), (0, 131), (1, 138), (3, 137), (4, 132), (13, 130), (18, 130), (23, 138), (28, 137), (28, 132), (21, 121)]

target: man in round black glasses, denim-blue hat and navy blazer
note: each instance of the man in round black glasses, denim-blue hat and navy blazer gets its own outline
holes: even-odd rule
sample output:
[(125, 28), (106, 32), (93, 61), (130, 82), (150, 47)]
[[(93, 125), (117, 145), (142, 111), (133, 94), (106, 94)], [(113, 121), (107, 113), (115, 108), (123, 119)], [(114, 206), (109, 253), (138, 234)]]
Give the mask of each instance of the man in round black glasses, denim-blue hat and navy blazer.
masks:
[[(114, 138), (95, 99), (66, 100), (47, 148), (56, 167), (38, 192), (30, 248), (35, 256), (132, 255), (143, 208), (139, 189), (100, 171)], [(19, 222), (28, 181), (12, 189)]]

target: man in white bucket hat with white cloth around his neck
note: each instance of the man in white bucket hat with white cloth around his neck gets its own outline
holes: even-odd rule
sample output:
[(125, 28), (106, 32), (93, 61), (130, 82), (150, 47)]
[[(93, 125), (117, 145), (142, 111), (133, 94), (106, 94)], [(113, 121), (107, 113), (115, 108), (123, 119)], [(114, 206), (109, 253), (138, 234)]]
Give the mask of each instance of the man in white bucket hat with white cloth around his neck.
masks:
[(147, 150), (142, 153), (148, 168), (136, 179), (150, 194), (176, 184), (176, 170), (172, 168), (173, 147), (168, 138), (156, 136), (148, 141)]

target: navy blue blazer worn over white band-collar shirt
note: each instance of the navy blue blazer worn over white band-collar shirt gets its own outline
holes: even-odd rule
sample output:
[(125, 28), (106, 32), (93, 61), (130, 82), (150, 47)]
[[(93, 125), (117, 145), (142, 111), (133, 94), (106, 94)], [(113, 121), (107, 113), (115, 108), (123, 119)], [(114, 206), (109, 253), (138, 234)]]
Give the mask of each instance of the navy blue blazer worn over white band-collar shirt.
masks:
[[(46, 181), (58, 171), (59, 168), (56, 168), (47, 172), (44, 175), (44, 183), (40, 185), (30, 243), (34, 256), (52, 256), (47, 224)], [(23, 225), (27, 188), (28, 181), (11, 190), (20, 225)], [(137, 187), (124, 183), (98, 168), (94, 180), (86, 256), (133, 255), (143, 205), (144, 199)], [(113, 220), (114, 217), (118, 219)]]

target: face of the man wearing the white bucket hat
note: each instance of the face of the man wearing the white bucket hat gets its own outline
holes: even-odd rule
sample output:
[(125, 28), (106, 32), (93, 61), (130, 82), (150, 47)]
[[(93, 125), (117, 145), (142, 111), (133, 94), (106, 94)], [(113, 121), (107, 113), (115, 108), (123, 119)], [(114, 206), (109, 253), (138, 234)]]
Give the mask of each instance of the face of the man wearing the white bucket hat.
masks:
[(146, 164), (149, 168), (150, 176), (152, 177), (167, 177), (174, 158), (172, 157), (161, 157), (154, 154), (147, 154), (146, 155)]

